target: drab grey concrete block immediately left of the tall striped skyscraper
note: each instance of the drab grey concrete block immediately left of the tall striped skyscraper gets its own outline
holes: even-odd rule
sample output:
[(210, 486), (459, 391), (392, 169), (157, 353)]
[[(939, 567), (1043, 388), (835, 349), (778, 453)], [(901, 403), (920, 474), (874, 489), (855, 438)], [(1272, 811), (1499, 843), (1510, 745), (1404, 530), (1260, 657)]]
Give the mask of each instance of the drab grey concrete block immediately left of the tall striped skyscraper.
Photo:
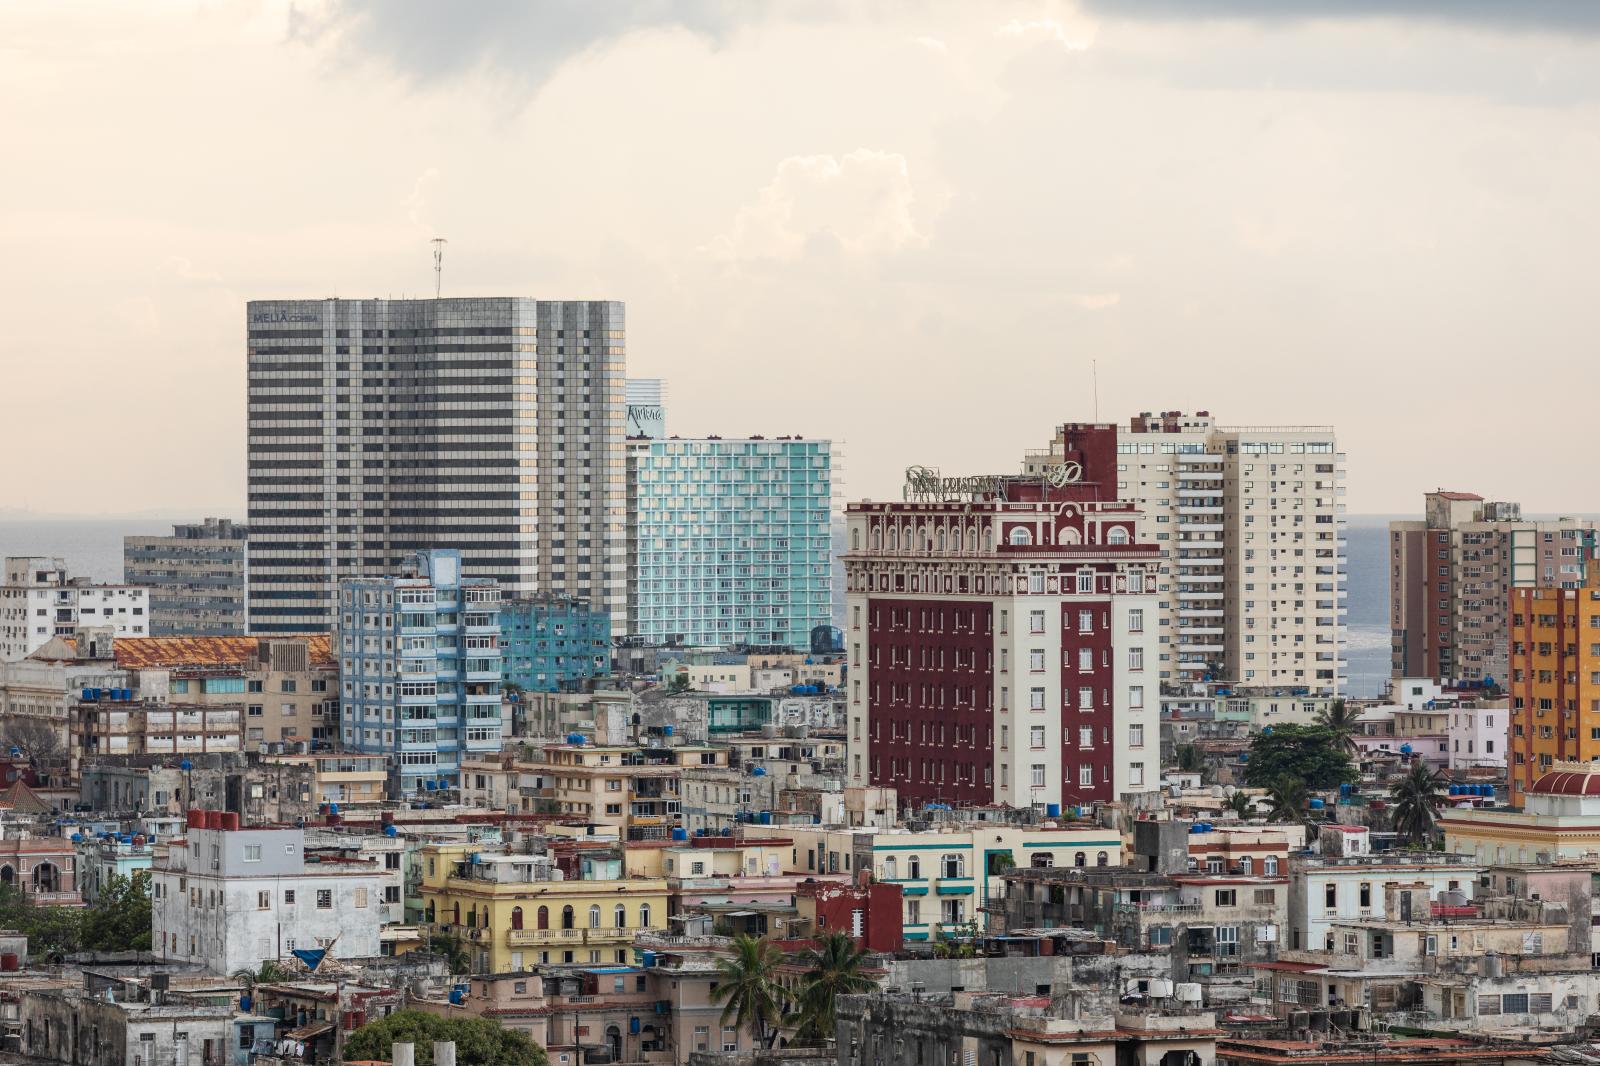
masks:
[(122, 538), (122, 578), (150, 589), (152, 637), (235, 637), (246, 629), (250, 531), (227, 519)]

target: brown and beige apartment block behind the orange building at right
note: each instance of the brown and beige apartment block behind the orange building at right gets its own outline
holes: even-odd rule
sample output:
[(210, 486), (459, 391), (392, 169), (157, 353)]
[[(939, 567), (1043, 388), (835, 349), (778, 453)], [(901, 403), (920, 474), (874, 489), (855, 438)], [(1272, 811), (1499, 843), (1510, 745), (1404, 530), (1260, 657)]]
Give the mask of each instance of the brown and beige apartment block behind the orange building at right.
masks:
[(1424, 496), (1422, 514), (1389, 523), (1394, 677), (1504, 682), (1510, 591), (1579, 587), (1595, 523), (1523, 519), (1515, 503), (1443, 490)]

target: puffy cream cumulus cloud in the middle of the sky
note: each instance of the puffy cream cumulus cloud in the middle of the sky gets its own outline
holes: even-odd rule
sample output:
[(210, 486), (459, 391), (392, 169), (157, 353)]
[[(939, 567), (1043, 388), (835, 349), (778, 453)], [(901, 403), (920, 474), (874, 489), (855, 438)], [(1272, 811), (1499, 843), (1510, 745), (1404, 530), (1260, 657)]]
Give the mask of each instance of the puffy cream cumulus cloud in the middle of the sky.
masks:
[(707, 251), (722, 261), (798, 259), (832, 248), (870, 256), (918, 248), (910, 166), (898, 152), (858, 149), (845, 157), (790, 155)]

